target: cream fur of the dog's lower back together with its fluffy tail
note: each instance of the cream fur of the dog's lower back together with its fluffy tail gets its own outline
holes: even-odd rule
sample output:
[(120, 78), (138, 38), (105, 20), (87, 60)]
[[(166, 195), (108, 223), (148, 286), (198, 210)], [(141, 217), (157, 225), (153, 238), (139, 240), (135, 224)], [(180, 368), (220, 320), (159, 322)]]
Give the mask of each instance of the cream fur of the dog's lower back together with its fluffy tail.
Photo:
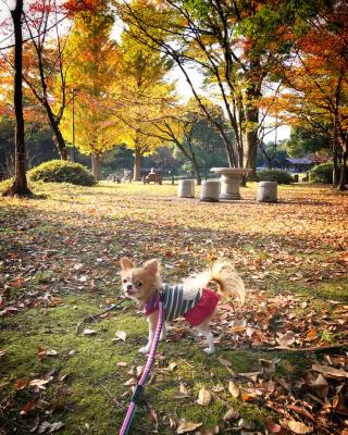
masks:
[[(196, 289), (207, 287), (210, 282), (215, 282), (217, 284), (217, 291), (224, 299), (234, 296), (237, 297), (240, 304), (244, 304), (246, 288), (241, 277), (229, 260), (216, 260), (207, 272), (201, 272), (184, 279), (185, 296), (188, 299), (194, 298), (196, 296)], [(192, 295), (190, 295), (191, 290)]]

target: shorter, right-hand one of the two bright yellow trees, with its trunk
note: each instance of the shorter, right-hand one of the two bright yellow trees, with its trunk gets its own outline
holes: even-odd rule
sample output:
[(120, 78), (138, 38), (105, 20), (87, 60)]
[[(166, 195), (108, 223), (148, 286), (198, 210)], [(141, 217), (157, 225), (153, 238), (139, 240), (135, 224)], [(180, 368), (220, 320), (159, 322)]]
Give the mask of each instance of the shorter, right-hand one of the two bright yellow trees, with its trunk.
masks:
[(134, 179), (140, 179), (141, 157), (163, 145), (152, 134), (151, 121), (175, 100), (175, 96), (173, 85), (166, 79), (172, 62), (134, 40), (132, 32), (129, 28), (122, 34), (122, 60), (117, 65), (114, 97), (115, 114), (123, 121), (122, 140), (134, 151)]

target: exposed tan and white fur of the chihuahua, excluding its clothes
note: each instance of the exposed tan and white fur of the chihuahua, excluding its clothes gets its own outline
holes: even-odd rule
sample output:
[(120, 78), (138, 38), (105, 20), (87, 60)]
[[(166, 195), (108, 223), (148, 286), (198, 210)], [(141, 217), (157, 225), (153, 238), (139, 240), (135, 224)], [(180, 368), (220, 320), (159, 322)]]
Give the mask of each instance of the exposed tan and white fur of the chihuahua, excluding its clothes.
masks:
[[(142, 266), (136, 268), (130, 259), (122, 258), (121, 266), (122, 288), (124, 294), (128, 298), (135, 299), (140, 307), (144, 307), (147, 300), (154, 295), (161, 285), (160, 265), (158, 260), (149, 260), (145, 262)], [(206, 288), (210, 282), (215, 282), (217, 284), (217, 291), (223, 299), (234, 296), (237, 297), (240, 304), (244, 304), (246, 295), (245, 285), (229, 260), (216, 260), (207, 272), (184, 279), (184, 293), (187, 296), (187, 299), (191, 298), (190, 294), (197, 294), (197, 288)], [(208, 340), (208, 348), (204, 349), (207, 353), (213, 353), (215, 351), (213, 334), (209, 330), (209, 322), (212, 320), (215, 311), (213, 311), (200, 325), (195, 327), (195, 330), (197, 330), (197, 332)], [(149, 339), (148, 344), (139, 349), (141, 353), (150, 351), (158, 318), (158, 311), (148, 316)], [(161, 339), (165, 337), (165, 325), (163, 325)]]

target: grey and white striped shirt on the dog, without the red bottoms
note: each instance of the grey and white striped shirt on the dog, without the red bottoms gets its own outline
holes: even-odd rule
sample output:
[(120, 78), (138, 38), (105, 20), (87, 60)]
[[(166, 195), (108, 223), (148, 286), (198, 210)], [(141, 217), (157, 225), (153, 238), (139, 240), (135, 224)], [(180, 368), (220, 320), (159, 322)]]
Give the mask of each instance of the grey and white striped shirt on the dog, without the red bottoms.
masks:
[[(187, 311), (195, 308), (201, 298), (201, 291), (197, 291), (194, 299), (184, 298), (184, 286), (182, 284), (162, 284), (160, 287), (162, 295), (165, 320), (182, 318)], [(145, 315), (149, 315), (158, 310), (158, 294), (153, 295), (144, 307)]]

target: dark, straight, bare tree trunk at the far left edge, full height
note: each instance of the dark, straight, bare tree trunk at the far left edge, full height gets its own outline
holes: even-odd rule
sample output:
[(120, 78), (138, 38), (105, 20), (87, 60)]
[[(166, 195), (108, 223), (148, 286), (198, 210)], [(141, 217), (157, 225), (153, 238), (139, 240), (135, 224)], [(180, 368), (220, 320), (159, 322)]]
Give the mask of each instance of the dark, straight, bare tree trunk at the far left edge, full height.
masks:
[(3, 194), (4, 196), (32, 196), (26, 181), (26, 149), (24, 141), (23, 117), (23, 88), (22, 88), (22, 13), (23, 0), (17, 0), (15, 9), (11, 11), (14, 27), (14, 113), (15, 113), (15, 142), (14, 142), (14, 182)]

